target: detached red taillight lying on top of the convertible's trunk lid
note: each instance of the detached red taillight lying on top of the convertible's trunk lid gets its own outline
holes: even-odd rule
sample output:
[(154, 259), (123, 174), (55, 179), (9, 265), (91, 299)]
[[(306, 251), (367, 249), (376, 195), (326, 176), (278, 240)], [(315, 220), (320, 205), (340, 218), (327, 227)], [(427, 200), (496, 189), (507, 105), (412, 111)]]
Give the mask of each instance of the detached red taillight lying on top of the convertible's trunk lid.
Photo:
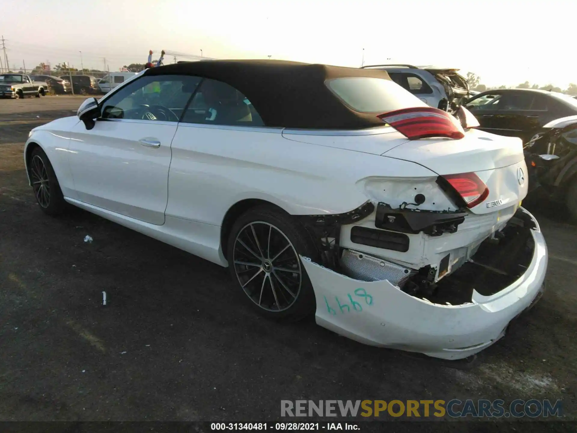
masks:
[(409, 140), (426, 137), (448, 137), (458, 140), (464, 137), (464, 130), (455, 117), (447, 111), (433, 107), (395, 110), (378, 117)]

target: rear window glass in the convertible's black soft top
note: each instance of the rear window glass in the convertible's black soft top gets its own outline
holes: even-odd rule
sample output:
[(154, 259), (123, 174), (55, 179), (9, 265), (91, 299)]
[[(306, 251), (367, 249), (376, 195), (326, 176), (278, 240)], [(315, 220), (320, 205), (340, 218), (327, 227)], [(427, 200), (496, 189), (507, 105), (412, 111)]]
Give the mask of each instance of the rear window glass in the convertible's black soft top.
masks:
[(427, 104), (391, 80), (345, 77), (327, 80), (327, 87), (350, 109), (359, 113), (387, 113)]

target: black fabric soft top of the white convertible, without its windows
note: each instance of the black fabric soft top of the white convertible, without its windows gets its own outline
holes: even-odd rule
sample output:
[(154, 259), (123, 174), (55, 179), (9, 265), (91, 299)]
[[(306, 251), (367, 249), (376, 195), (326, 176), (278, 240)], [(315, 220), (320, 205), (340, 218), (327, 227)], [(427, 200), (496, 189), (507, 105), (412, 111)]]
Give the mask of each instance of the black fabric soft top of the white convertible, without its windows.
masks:
[(279, 60), (206, 60), (147, 69), (144, 75), (194, 75), (230, 84), (246, 96), (266, 126), (363, 129), (383, 125), (374, 113), (351, 110), (325, 85), (341, 77), (390, 80), (387, 72)]

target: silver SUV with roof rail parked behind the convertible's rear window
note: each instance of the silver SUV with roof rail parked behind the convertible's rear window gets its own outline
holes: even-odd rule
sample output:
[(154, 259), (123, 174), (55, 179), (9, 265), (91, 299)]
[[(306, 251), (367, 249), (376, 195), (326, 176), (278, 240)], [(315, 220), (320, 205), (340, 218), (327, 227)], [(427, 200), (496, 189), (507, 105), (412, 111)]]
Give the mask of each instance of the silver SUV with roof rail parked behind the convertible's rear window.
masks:
[(443, 111), (456, 111), (469, 97), (469, 84), (459, 69), (413, 65), (368, 65), (363, 69), (383, 69), (400, 87)]

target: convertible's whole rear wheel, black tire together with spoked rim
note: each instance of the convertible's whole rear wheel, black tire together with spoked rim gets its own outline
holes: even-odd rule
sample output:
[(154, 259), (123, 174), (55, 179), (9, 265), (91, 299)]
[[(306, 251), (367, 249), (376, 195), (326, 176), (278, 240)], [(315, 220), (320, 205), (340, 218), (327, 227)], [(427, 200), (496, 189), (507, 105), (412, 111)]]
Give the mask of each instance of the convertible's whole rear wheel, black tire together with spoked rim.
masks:
[[(258, 244), (254, 241), (254, 234)], [(261, 256), (260, 267), (259, 259), (238, 239)], [(283, 247), (284, 244), (289, 246)], [(280, 252), (283, 248), (284, 251)], [(235, 286), (242, 290), (243, 298), (261, 315), (295, 321), (315, 311), (313, 286), (298, 255), (316, 259), (316, 248), (305, 228), (286, 212), (272, 206), (246, 211), (230, 231), (227, 252), (228, 269)]]

